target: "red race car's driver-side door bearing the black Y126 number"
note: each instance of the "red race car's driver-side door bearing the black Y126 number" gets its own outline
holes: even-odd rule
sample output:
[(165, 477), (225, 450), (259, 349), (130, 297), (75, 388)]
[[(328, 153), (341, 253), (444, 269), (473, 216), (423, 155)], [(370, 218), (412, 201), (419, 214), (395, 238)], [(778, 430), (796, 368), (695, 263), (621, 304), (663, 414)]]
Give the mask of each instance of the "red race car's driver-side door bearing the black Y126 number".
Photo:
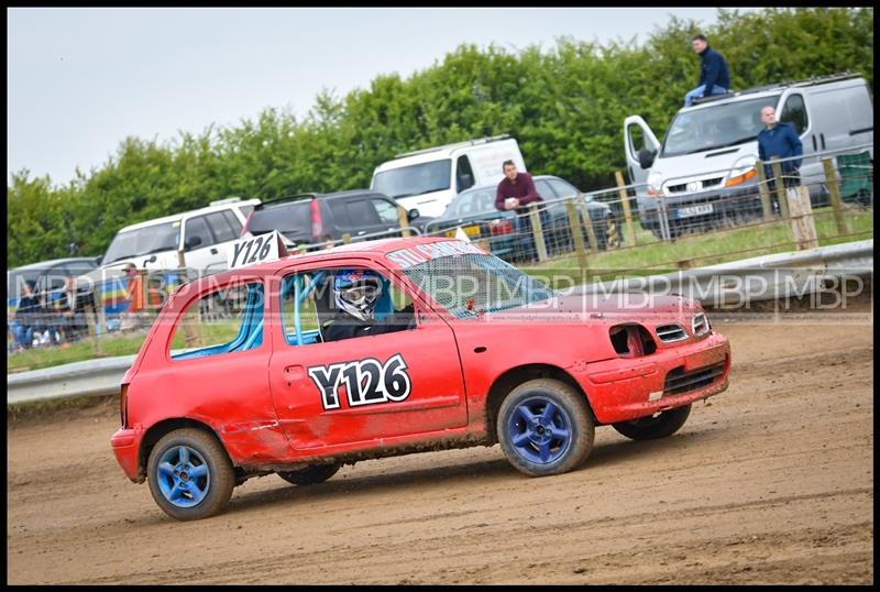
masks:
[[(273, 318), (282, 320), (272, 337), (270, 385), (292, 447), (300, 454), (327, 454), (464, 428), (468, 406), (452, 329), (418, 299), (413, 329), (304, 344), (289, 337), (292, 325), (308, 317), (302, 308), (300, 316), (292, 317), (293, 298), (282, 298), (282, 282), (294, 274), (316, 277), (312, 274), (323, 271), (323, 281), (330, 282), (341, 268), (373, 268), (391, 279), (394, 289), (405, 290), (374, 263), (340, 263), (288, 268), (272, 289)], [(315, 294), (318, 300), (332, 297), (326, 287)]]

